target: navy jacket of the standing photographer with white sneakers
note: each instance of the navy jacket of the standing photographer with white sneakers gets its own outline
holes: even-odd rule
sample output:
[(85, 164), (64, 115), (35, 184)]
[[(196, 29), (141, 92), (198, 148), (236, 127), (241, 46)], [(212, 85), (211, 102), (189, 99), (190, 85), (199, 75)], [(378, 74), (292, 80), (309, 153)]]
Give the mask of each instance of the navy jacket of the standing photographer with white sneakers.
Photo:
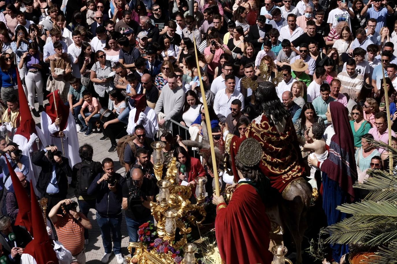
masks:
[(114, 173), (116, 177), (116, 192), (112, 192), (108, 187), (108, 182), (103, 181), (98, 184), (98, 180), (104, 173), (99, 173), (88, 188), (88, 195), (96, 195), (96, 212), (102, 217), (114, 217), (121, 213), (121, 201), (123, 200), (122, 186), (125, 178), (119, 173)]

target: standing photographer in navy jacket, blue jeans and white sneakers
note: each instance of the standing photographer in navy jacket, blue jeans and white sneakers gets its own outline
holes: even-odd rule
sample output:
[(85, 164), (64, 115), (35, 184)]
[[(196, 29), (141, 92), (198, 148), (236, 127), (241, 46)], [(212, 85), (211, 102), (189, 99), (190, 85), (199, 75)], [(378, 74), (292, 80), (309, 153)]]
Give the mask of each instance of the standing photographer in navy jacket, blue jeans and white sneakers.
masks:
[[(122, 186), (125, 178), (114, 171), (114, 163), (110, 158), (102, 161), (103, 173), (98, 174), (90, 187), (88, 195), (96, 196), (96, 222), (102, 234), (103, 246), (105, 253), (102, 256), (102, 263), (107, 263), (113, 251), (116, 255), (117, 263), (124, 262), (121, 253), (121, 200), (123, 198)], [(113, 236), (110, 236), (112, 232)]]

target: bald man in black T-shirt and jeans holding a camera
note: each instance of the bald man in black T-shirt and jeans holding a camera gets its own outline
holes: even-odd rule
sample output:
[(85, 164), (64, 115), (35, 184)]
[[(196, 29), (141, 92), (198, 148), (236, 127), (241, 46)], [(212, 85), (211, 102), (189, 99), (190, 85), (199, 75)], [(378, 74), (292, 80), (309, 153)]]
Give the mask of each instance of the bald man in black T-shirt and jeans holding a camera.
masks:
[(154, 200), (155, 185), (152, 180), (144, 177), (139, 168), (131, 169), (131, 177), (123, 185), (123, 209), (127, 223), (130, 242), (138, 241), (139, 226), (152, 221), (150, 202)]

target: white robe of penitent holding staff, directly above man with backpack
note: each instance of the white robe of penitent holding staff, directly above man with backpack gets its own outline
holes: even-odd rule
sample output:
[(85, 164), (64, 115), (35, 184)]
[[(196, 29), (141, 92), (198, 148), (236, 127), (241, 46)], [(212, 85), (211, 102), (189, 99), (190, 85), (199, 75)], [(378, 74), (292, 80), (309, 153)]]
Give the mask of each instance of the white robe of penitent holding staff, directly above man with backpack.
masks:
[(55, 123), (52, 123), (50, 116), (48, 116), (46, 112), (41, 112), (41, 130), (44, 136), (48, 139), (48, 144), (54, 144), (57, 146), (58, 150), (62, 151), (62, 155), (69, 159), (69, 165), (71, 168), (73, 168), (76, 163), (81, 162), (76, 123), (70, 111), (69, 117), (67, 118), (67, 126), (64, 131), (62, 131), (65, 134), (62, 138), (64, 142), (64, 150), (62, 150), (61, 138), (54, 137), (52, 135), (59, 131), (59, 127), (55, 125)]

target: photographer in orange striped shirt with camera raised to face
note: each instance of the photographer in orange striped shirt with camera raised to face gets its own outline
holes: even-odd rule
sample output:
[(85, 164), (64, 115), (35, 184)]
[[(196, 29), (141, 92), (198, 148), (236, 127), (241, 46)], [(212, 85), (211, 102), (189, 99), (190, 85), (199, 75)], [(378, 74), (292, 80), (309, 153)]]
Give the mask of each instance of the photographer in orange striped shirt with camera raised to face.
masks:
[[(73, 261), (85, 263), (84, 230), (91, 229), (91, 222), (83, 213), (77, 213), (77, 203), (64, 199), (52, 207), (48, 217), (55, 226), (58, 240), (70, 251)], [(62, 214), (57, 212), (62, 209)]]

